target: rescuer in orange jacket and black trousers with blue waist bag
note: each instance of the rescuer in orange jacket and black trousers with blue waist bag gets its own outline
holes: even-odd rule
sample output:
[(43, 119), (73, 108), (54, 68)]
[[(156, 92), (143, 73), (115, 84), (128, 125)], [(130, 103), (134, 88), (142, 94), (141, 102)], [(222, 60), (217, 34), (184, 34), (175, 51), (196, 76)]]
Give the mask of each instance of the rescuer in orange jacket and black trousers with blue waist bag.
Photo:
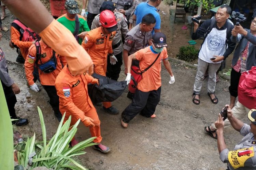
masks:
[[(37, 55), (37, 53), (40, 53), (39, 48), (41, 49), (41, 54)], [(39, 65), (45, 64), (47, 62), (54, 62), (53, 65), (55, 64), (56, 69), (52, 69), (51, 72), (41, 70)], [(65, 57), (55, 53), (55, 51), (53, 51), (53, 49), (49, 47), (47, 44), (45, 44), (45, 42), (41, 39), (39, 42), (36, 42), (29, 48), (28, 55), (24, 65), (28, 84), (30, 88), (35, 92), (38, 92), (39, 88), (37, 84), (35, 84), (33, 81), (33, 71), (34, 67), (38, 68), (41, 84), (50, 98), (49, 103), (52, 106), (54, 115), (57, 117), (59, 122), (62, 118), (62, 115), (59, 111), (59, 97), (57, 95), (57, 91), (54, 85), (56, 77), (62, 69), (62, 64), (67, 64)]]

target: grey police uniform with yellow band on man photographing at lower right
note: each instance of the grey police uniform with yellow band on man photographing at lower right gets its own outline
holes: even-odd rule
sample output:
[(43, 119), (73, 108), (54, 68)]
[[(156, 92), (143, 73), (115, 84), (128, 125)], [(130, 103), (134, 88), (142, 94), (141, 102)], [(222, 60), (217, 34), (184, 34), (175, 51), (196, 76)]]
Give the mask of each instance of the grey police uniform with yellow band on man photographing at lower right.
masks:
[(224, 163), (228, 163), (228, 168), (252, 170), (256, 169), (256, 140), (251, 133), (251, 127), (248, 124), (244, 124), (240, 130), (240, 134), (244, 138), (236, 145), (233, 151), (224, 149), (219, 158)]

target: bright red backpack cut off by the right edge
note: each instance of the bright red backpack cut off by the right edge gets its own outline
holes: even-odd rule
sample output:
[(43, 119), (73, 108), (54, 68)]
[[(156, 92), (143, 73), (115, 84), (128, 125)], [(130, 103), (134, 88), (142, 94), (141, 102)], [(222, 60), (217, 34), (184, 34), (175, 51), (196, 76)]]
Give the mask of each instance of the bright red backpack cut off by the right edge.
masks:
[(238, 101), (248, 109), (256, 109), (256, 66), (241, 74)]

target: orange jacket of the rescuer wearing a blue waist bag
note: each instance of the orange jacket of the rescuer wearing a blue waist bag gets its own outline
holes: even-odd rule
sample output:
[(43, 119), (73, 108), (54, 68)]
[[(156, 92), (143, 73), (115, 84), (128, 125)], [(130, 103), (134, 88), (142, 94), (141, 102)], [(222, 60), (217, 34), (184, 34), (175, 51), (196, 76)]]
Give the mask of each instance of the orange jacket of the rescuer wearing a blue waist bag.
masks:
[[(41, 54), (42, 54), (41, 61), (43, 63), (45, 63), (52, 58), (53, 50), (51, 47), (47, 46), (42, 40), (40, 40), (39, 43), (41, 46)], [(35, 65), (35, 60), (36, 60), (36, 53), (37, 53), (37, 49), (36, 49), (35, 45), (33, 44), (28, 50), (28, 55), (27, 55), (27, 58), (25, 60), (25, 65), (24, 65), (26, 77), (28, 80), (28, 84), (30, 86), (34, 84), (33, 71), (34, 71), (34, 65)], [(56, 69), (54, 71), (52, 71), (50, 73), (44, 73), (43, 71), (38, 69), (39, 78), (40, 78), (42, 85), (54, 86), (56, 77), (62, 69), (61, 63), (64, 66), (67, 64), (64, 56), (60, 56), (57, 53), (55, 53), (55, 56), (56, 56), (57, 64), (56, 64)], [(41, 64), (41, 61), (38, 60), (38, 64)]]

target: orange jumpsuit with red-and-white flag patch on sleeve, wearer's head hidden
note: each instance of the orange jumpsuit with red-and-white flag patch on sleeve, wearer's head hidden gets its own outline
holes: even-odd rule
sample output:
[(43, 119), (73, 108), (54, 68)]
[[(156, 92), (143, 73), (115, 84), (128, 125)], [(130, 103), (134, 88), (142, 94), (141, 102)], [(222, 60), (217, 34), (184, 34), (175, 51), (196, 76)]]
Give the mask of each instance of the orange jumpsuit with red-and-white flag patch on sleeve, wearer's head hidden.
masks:
[(97, 137), (94, 142), (100, 143), (100, 120), (96, 109), (88, 95), (87, 84), (95, 80), (90, 75), (81, 74), (73, 76), (67, 65), (63, 67), (57, 76), (55, 87), (59, 96), (59, 109), (63, 115), (66, 112), (64, 122), (71, 115), (70, 126), (74, 125), (78, 119), (83, 121), (85, 117), (93, 119), (94, 127), (89, 127), (92, 137)]

